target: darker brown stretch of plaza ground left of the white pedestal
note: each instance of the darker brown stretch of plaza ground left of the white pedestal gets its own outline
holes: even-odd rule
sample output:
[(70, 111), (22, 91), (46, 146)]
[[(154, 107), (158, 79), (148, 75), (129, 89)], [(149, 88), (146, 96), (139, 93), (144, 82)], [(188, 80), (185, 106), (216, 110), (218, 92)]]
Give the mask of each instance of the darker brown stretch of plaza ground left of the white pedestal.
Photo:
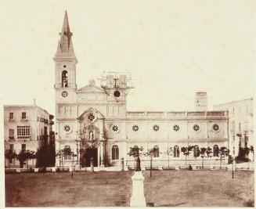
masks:
[(132, 171), (5, 175), (6, 207), (128, 206)]

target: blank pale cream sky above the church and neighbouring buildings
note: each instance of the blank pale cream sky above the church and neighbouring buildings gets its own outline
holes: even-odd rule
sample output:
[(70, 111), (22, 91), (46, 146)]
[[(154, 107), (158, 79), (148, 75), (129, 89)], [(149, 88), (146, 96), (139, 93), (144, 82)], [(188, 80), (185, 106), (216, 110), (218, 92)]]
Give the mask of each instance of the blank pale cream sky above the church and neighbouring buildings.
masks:
[(78, 58), (77, 84), (103, 71), (129, 71), (127, 110), (209, 110), (247, 99), (254, 88), (253, 1), (2, 2), (3, 104), (33, 104), (55, 114), (52, 57), (67, 9)]

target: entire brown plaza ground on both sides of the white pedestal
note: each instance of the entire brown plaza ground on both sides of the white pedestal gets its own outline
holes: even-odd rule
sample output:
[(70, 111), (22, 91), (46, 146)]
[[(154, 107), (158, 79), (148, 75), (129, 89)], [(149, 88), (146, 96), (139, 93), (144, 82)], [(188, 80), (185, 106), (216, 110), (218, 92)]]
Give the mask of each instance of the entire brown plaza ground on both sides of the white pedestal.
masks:
[[(6, 207), (125, 207), (133, 171), (5, 175)], [(254, 171), (143, 171), (155, 207), (245, 207), (254, 202)]]

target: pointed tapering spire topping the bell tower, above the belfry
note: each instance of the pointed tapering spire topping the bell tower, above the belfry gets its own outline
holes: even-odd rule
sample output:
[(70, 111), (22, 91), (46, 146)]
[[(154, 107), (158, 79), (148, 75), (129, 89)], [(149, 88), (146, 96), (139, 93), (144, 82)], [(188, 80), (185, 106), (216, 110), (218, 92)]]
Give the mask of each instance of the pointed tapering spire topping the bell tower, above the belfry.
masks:
[[(72, 45), (72, 32), (70, 31), (70, 24), (68, 22), (67, 10), (65, 11), (65, 16), (63, 20), (63, 27), (59, 33), (60, 39), (58, 42), (57, 52), (55, 58), (57, 57), (70, 57), (76, 59), (74, 55), (74, 49)], [(76, 59), (77, 62), (77, 59)]]

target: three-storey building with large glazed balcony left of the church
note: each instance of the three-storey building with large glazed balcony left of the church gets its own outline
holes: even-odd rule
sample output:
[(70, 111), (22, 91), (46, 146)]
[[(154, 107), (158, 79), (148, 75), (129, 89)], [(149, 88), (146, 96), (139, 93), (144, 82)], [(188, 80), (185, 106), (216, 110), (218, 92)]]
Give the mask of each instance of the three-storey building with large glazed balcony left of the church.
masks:
[[(5, 150), (31, 150), (37, 152), (42, 146), (54, 143), (52, 132), (53, 115), (40, 106), (34, 105), (5, 105), (4, 106), (4, 137)], [(11, 168), (23, 168), (24, 161), (12, 160)], [(29, 160), (31, 168), (35, 166), (35, 160)], [(9, 165), (5, 159), (5, 165)]]

